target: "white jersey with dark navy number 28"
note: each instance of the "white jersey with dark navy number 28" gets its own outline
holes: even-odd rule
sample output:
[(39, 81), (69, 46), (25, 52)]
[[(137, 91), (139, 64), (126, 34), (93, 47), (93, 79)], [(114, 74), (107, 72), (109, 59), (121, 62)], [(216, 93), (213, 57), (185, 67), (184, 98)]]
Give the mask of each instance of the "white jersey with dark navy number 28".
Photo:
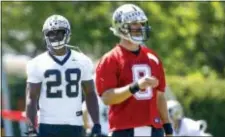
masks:
[(42, 83), (38, 123), (83, 125), (81, 81), (92, 80), (93, 63), (69, 50), (60, 61), (45, 52), (27, 64), (27, 82)]

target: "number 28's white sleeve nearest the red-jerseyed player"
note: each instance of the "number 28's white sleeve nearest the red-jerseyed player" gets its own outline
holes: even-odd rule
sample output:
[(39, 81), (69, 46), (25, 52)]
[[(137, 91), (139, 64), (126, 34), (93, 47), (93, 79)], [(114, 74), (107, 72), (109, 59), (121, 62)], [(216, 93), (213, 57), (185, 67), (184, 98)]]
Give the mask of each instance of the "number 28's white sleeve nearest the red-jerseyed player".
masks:
[(84, 62), (84, 72), (82, 75), (82, 81), (92, 80), (94, 73), (94, 65), (90, 58), (87, 58)]

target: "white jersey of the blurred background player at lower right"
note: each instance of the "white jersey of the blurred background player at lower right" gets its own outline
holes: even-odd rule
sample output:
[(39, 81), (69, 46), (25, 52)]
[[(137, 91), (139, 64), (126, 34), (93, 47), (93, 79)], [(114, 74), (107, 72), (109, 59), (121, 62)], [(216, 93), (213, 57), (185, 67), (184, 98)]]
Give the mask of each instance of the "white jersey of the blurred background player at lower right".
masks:
[(174, 136), (205, 136), (209, 135), (200, 130), (200, 122), (190, 118), (182, 118), (180, 128), (174, 131)]

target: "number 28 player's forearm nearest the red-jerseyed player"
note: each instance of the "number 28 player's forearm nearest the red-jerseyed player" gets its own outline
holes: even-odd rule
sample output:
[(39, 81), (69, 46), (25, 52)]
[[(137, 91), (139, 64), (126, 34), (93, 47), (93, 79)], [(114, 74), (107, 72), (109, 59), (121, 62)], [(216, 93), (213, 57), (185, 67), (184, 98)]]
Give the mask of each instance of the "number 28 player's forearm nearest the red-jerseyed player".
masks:
[(99, 106), (95, 91), (86, 94), (85, 96), (87, 110), (94, 124), (99, 124)]

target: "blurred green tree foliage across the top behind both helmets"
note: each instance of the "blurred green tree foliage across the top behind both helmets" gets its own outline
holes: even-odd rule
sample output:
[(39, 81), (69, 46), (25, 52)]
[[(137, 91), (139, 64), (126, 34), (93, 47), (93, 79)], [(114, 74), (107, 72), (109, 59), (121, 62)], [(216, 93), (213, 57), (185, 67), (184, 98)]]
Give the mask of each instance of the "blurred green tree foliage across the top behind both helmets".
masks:
[[(28, 54), (45, 50), (42, 25), (52, 14), (68, 18), (72, 45), (99, 58), (118, 38), (110, 32), (113, 11), (128, 2), (2, 2), (3, 47)], [(147, 45), (160, 55), (167, 74), (187, 75), (207, 66), (225, 77), (225, 3), (133, 2), (152, 27)], [(5, 48), (4, 48), (5, 49)]]

